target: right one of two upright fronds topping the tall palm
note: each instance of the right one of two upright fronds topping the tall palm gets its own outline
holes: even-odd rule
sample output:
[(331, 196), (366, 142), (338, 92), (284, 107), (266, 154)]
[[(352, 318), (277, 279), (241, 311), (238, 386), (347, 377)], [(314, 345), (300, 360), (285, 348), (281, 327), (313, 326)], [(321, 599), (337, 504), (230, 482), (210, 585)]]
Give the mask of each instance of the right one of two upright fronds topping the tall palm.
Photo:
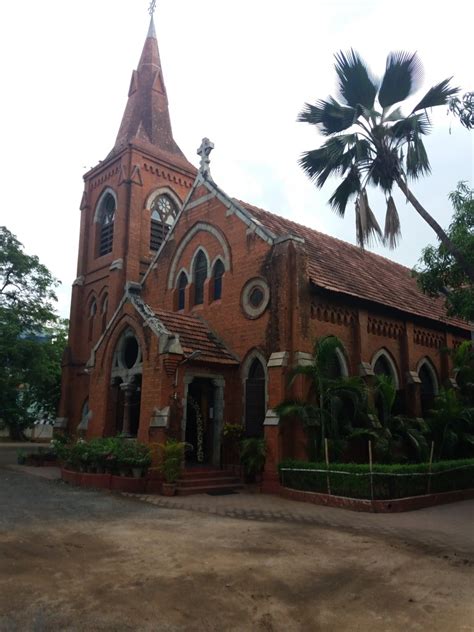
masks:
[(383, 108), (400, 103), (418, 89), (423, 67), (416, 53), (397, 51), (387, 57), (378, 100)]

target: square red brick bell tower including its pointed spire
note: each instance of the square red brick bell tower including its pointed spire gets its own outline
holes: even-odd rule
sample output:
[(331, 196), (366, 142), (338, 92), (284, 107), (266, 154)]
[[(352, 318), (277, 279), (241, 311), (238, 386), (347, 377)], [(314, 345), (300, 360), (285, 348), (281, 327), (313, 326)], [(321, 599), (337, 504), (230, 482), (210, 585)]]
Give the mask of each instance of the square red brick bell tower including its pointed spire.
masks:
[(173, 138), (153, 12), (152, 3), (115, 143), (84, 176), (59, 411), (70, 429), (81, 421), (87, 400), (90, 352), (117, 309), (125, 285), (141, 281), (196, 175)]

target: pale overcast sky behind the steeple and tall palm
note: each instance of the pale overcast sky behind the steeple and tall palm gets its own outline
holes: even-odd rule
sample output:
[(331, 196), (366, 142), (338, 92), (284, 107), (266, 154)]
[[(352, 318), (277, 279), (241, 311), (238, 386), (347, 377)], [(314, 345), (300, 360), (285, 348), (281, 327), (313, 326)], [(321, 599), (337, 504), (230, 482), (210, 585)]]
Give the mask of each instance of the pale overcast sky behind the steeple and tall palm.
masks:
[[(390, 50), (417, 50), (423, 87), (455, 76), (474, 89), (471, 2), (432, 0), (158, 0), (155, 22), (174, 137), (198, 164), (215, 143), (212, 173), (228, 194), (354, 241), (352, 206), (341, 220), (297, 165), (322, 139), (296, 123), (305, 101), (334, 94), (333, 54), (358, 50), (381, 74)], [(82, 175), (114, 144), (130, 76), (148, 29), (148, 0), (2, 2), (1, 224), (62, 281), (69, 314), (76, 276)], [(432, 175), (413, 185), (441, 224), (447, 195), (473, 181), (474, 132), (443, 108), (426, 145)], [(451, 133), (450, 133), (451, 126)], [(372, 207), (382, 217), (381, 199)], [(399, 200), (403, 243), (377, 251), (413, 266), (431, 230)]]

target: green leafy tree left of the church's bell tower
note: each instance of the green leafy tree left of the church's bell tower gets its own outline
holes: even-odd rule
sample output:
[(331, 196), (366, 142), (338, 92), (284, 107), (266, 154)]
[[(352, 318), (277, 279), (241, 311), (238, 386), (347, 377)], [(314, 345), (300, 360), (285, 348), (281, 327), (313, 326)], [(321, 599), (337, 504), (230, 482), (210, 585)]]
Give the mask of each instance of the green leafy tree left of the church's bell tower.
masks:
[(54, 311), (58, 281), (0, 227), (0, 419), (14, 438), (59, 401), (66, 323)]

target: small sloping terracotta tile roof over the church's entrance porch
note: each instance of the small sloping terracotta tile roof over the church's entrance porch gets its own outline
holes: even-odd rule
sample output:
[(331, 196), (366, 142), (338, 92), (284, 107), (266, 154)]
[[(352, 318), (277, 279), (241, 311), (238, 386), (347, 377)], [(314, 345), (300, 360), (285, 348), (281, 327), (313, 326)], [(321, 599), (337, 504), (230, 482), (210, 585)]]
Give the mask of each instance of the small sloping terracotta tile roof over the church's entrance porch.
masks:
[(227, 349), (223, 342), (211, 331), (207, 323), (192, 314), (153, 310), (159, 320), (172, 333), (179, 335), (183, 351), (189, 355), (193, 351), (203, 353), (197, 361), (216, 364), (238, 364), (238, 360)]

